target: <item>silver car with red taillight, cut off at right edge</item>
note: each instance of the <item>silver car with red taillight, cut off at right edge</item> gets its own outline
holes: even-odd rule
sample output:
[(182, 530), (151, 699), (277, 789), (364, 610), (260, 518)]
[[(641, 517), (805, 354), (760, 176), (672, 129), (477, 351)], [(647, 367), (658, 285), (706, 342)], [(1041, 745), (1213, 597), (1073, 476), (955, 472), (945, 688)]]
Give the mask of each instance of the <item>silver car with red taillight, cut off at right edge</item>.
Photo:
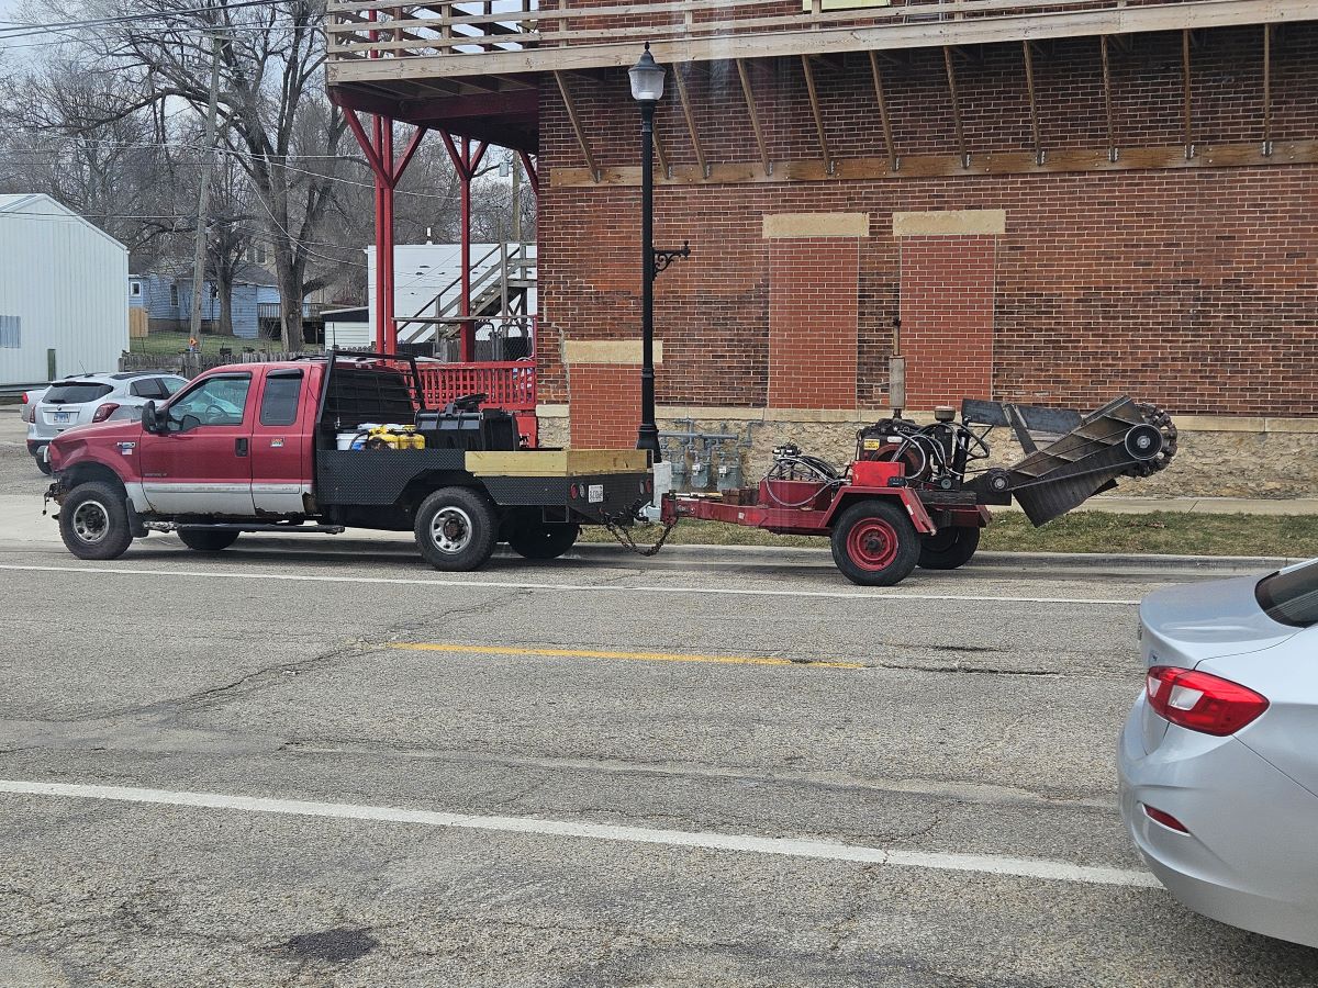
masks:
[(1160, 590), (1122, 818), (1184, 905), (1318, 947), (1318, 560)]

